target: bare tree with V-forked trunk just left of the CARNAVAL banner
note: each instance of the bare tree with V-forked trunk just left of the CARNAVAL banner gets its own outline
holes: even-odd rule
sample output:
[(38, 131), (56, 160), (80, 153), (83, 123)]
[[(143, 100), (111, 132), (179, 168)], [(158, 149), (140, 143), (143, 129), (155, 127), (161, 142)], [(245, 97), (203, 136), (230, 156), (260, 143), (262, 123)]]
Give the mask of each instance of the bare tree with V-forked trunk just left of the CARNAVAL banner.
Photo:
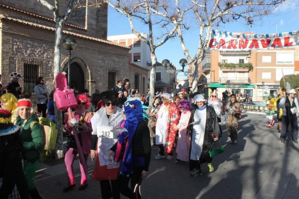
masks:
[[(177, 35), (183, 49), (184, 56), (192, 69), (192, 92), (197, 91), (198, 66), (202, 62), (211, 36), (213, 27), (232, 21), (243, 20), (248, 25), (254, 24), (265, 15), (272, 13), (285, 0), (190, 0), (194, 3), (192, 9), (199, 28), (199, 41), (195, 56), (192, 58), (183, 39), (182, 30), (185, 28), (182, 18), (172, 21), (177, 28)], [(183, 16), (177, 10), (178, 16)], [(194, 16), (193, 15), (193, 16)], [(200, 74), (202, 75), (202, 74)]]

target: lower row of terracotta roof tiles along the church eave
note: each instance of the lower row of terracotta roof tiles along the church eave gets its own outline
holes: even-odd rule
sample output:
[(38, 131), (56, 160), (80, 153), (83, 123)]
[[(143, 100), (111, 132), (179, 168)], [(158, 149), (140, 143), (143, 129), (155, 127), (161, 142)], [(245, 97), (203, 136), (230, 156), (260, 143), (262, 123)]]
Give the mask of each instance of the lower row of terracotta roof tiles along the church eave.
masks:
[[(45, 29), (45, 30), (49, 30), (49, 31), (55, 32), (55, 28), (54, 27), (42, 25), (42, 24), (39, 24), (39, 23), (29, 22), (29, 21), (18, 19), (18, 18), (14, 18), (14, 17), (11, 17), (11, 16), (5, 16), (3, 14), (0, 14), (0, 20), (13, 21), (13, 22), (24, 24), (24, 25), (29, 25), (29, 26), (32, 26), (32, 27), (41, 28), (41, 29)], [(104, 43), (104, 44), (108, 44), (108, 45), (112, 45), (112, 46), (117, 46), (117, 47), (122, 47), (122, 48), (126, 48), (126, 49), (131, 49), (131, 48), (127, 47), (127, 46), (123, 46), (123, 45), (114, 43), (112, 41), (100, 39), (100, 38), (97, 38), (97, 37), (87, 36), (87, 35), (84, 35), (84, 34), (70, 32), (70, 31), (67, 31), (67, 30), (63, 30), (63, 33), (66, 34), (66, 35), (71, 35), (71, 36), (79, 37), (79, 38), (82, 38), (82, 39), (88, 39), (88, 40), (92, 40), (92, 41), (97, 41), (99, 43)]]

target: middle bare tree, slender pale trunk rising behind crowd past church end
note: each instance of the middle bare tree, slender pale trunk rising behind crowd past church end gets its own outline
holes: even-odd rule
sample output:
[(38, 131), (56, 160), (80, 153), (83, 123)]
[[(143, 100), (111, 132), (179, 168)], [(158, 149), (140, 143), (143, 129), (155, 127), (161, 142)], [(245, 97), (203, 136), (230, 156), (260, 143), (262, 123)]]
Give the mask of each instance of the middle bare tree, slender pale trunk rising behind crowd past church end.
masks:
[[(171, 18), (182, 18), (176, 16), (173, 10), (178, 9), (178, 4), (169, 0), (104, 0), (118, 12), (127, 16), (132, 32), (144, 41), (150, 49), (151, 70), (149, 78), (150, 95), (154, 95), (154, 75), (157, 58), (155, 50), (163, 45), (168, 39), (176, 36), (177, 25), (169, 23)], [(180, 14), (183, 15), (191, 7), (186, 8)], [(157, 14), (159, 13), (159, 14)], [(165, 18), (166, 16), (166, 18)], [(144, 23), (149, 31), (149, 40), (141, 32), (136, 30), (134, 19)], [(181, 23), (180, 23), (181, 24)], [(153, 26), (158, 28), (154, 29)], [(156, 41), (158, 40), (158, 41)]]

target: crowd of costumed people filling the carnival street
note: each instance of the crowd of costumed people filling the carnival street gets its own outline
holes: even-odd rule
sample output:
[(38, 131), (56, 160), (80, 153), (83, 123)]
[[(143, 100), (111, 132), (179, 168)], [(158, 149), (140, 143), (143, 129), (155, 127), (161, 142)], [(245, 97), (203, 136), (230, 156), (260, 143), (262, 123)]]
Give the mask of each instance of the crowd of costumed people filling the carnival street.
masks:
[[(40, 151), (45, 145), (43, 127), (39, 117), (48, 117), (54, 122), (54, 91), (47, 91), (42, 77), (34, 87), (36, 104), (31, 102), (31, 93), (22, 91), (18, 84), (20, 74), (11, 73), (11, 82), (0, 85), (0, 198), (19, 195), (21, 199), (43, 198), (34, 184)], [(67, 185), (63, 192), (76, 187), (73, 163), (79, 150), (81, 181), (79, 190), (88, 188), (84, 165), (88, 157), (94, 161), (92, 178), (100, 182), (103, 199), (140, 199), (142, 179), (148, 175), (151, 144), (157, 150), (155, 160), (170, 160), (176, 163), (189, 162), (191, 177), (202, 175), (201, 165), (207, 163), (208, 171), (214, 172), (211, 151), (222, 137), (220, 123), (224, 116), (231, 144), (237, 144), (238, 122), (242, 106), (231, 91), (216, 91), (209, 98), (199, 92), (188, 95), (181, 90), (176, 95), (160, 91), (155, 96), (141, 95), (131, 88), (128, 79), (118, 81), (113, 90), (89, 96), (72, 88), (77, 106), (71, 115), (64, 114), (64, 130), (67, 133), (64, 157)], [(281, 141), (286, 139), (287, 126), (292, 124), (292, 139), (297, 142), (299, 102), (295, 90), (287, 98), (279, 98), (282, 109)], [(36, 105), (37, 111), (33, 110)], [(270, 121), (272, 125), (273, 121)], [(76, 143), (78, 135), (79, 144)], [(80, 145), (80, 146), (79, 146)], [(175, 155), (176, 154), (176, 155)], [(84, 162), (81, 162), (84, 161)], [(131, 186), (129, 186), (131, 182)]]

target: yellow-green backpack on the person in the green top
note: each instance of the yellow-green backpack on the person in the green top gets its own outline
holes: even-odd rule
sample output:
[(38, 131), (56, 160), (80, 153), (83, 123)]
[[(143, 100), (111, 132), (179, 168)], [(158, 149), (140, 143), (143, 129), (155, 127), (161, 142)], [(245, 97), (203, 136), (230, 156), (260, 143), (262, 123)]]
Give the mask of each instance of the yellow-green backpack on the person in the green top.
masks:
[[(45, 157), (49, 156), (52, 150), (55, 150), (56, 147), (56, 139), (58, 131), (56, 129), (56, 124), (53, 123), (50, 119), (45, 117), (39, 117), (39, 124), (42, 126), (43, 131), (43, 141), (44, 145), (42, 147), (40, 161), (42, 162)], [(33, 125), (37, 123), (37, 121), (32, 121), (30, 124), (30, 129), (32, 130)]]

